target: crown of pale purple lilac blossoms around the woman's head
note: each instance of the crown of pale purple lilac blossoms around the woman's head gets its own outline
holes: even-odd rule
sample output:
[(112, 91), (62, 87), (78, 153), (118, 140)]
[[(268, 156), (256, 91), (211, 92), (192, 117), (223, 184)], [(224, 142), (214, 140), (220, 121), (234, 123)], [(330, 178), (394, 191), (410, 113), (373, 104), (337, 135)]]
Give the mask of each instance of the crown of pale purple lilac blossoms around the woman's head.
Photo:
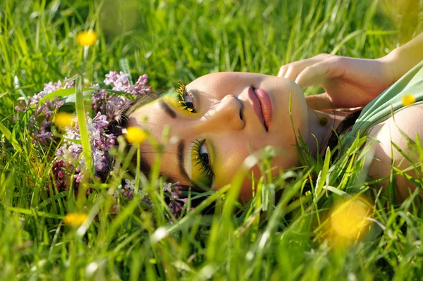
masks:
[[(147, 82), (146, 74), (141, 75), (132, 85), (130, 75), (110, 71), (104, 79), (104, 86), (109, 89), (106, 87), (101, 89), (99, 84), (91, 85), (90, 89), (94, 89), (91, 108), (96, 114), (92, 118), (87, 114), (86, 124), (90, 136), (94, 177), (97, 180), (106, 180), (113, 168), (113, 159), (109, 151), (116, 145), (118, 135), (122, 134), (121, 113), (128, 108), (133, 99), (142, 98), (147, 94), (152, 95), (152, 88), (147, 86)], [(42, 92), (27, 101), (20, 101), (16, 106), (17, 111), (26, 114), (27, 130), (32, 134), (32, 144), (39, 149), (47, 149), (51, 144), (54, 147), (59, 146), (54, 157), (51, 182), (47, 187), (49, 194), (64, 192), (71, 186), (77, 192), (80, 182), (87, 176), (78, 119), (72, 113), (66, 112), (67, 106), (75, 99), (75, 94), (66, 95), (72, 92), (74, 84), (73, 80), (66, 78), (64, 82), (61, 80), (49, 82), (44, 84)], [(116, 192), (132, 199), (134, 189), (135, 180), (124, 179)], [(88, 194), (91, 192), (92, 189), (87, 189)], [(180, 211), (181, 203), (185, 201), (178, 197), (180, 185), (166, 183), (164, 192), (170, 194), (168, 197), (171, 198), (169, 204), (171, 211), (173, 213)], [(149, 201), (148, 194), (143, 190), (138, 194)]]

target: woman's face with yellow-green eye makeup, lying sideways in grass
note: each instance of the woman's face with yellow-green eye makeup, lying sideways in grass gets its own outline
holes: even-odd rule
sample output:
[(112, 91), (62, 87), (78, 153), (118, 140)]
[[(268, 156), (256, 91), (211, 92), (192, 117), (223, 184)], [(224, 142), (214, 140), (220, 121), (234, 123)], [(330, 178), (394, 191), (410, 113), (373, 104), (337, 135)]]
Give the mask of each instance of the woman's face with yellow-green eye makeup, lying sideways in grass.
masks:
[[(289, 99), (292, 94), (291, 125)], [(192, 81), (182, 91), (137, 108), (130, 125), (149, 130), (161, 139), (164, 126), (171, 129), (173, 142), (164, 148), (161, 173), (184, 185), (219, 189), (252, 152), (266, 145), (277, 146), (281, 154), (272, 164), (279, 170), (299, 164), (295, 147), (298, 130), (305, 137), (307, 105), (294, 82), (255, 73), (213, 73)], [(295, 133), (294, 133), (295, 130)], [(142, 144), (142, 156), (152, 164), (154, 151)], [(252, 168), (255, 179), (259, 168)], [(250, 199), (251, 179), (243, 182), (241, 194)]]

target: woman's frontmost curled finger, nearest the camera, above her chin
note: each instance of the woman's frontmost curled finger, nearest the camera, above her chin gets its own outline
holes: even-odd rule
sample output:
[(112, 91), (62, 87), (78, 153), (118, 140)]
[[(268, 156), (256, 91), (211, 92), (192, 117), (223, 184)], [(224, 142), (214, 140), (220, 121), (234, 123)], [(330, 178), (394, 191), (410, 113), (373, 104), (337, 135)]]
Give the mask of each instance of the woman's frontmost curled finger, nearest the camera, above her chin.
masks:
[(312, 85), (323, 85), (326, 79), (343, 75), (345, 65), (341, 57), (329, 58), (314, 65), (309, 65), (295, 79), (295, 82), (305, 89)]

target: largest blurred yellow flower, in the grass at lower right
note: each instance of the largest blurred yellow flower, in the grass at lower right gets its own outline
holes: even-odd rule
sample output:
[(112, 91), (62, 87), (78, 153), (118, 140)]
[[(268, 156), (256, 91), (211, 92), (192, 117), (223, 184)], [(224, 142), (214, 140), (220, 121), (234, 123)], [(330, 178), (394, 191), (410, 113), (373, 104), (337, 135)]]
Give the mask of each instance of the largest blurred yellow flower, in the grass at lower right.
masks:
[(360, 239), (369, 229), (367, 220), (372, 209), (362, 197), (356, 197), (338, 203), (331, 208), (328, 216), (328, 235), (330, 242), (336, 245), (348, 245)]

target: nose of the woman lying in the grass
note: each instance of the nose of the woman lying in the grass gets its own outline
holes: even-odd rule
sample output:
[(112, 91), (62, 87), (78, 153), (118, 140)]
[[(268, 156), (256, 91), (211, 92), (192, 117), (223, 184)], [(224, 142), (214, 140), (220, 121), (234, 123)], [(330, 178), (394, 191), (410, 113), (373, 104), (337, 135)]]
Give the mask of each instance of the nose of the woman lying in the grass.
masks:
[(235, 96), (228, 94), (209, 108), (202, 118), (204, 129), (243, 130), (243, 104)]

